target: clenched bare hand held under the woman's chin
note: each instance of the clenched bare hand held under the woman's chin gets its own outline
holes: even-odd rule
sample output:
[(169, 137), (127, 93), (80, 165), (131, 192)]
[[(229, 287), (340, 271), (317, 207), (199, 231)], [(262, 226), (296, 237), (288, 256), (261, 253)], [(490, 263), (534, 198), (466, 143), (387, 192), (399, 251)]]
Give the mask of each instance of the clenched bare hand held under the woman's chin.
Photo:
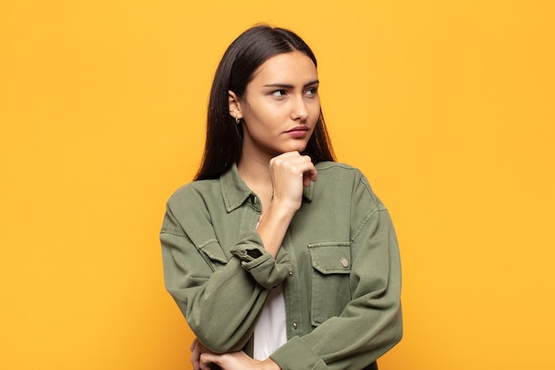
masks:
[(273, 197), (271, 206), (296, 212), (301, 208), (303, 186), (317, 180), (317, 169), (308, 155), (287, 152), (270, 160)]

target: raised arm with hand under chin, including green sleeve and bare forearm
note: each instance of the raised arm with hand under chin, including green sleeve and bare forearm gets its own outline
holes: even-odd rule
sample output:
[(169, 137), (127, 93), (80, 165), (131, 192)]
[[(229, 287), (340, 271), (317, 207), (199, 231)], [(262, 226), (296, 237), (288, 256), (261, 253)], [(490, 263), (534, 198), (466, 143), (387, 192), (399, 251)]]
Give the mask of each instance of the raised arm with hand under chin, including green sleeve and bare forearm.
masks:
[(241, 233), (233, 246), (220, 246), (213, 222), (222, 220), (191, 186), (168, 201), (160, 232), (166, 287), (199, 341), (218, 353), (245, 346), (270, 289), (293, 270), (287, 253), (277, 253), (317, 171), (296, 152), (274, 158), (270, 170), (270, 208), (258, 230)]

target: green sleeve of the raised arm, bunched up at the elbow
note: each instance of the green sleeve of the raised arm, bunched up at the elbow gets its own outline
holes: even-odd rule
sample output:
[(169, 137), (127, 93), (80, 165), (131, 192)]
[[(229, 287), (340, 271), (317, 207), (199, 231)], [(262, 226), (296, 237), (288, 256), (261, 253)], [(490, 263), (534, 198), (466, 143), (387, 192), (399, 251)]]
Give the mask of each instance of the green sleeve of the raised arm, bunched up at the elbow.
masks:
[(199, 341), (218, 353), (241, 350), (269, 289), (291, 270), (287, 256), (276, 262), (254, 230), (224, 253), (193, 192), (168, 201), (160, 242), (166, 287)]

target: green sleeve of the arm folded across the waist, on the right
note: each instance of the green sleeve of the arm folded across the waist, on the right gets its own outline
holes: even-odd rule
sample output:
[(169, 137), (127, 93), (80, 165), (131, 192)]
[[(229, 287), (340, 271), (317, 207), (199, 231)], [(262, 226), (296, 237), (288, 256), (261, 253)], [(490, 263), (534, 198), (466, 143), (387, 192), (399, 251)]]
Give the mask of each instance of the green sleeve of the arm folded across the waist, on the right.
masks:
[(338, 317), (293, 337), (270, 356), (284, 370), (363, 368), (403, 336), (393, 223), (365, 177), (357, 183), (351, 203), (352, 299)]

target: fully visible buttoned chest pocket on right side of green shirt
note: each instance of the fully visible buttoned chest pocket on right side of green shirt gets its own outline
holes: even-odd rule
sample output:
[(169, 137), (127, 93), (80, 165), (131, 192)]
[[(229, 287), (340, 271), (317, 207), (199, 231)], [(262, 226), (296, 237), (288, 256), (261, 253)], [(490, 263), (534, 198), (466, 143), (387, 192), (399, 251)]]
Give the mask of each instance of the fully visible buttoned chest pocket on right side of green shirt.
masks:
[(312, 325), (339, 316), (351, 300), (349, 274), (351, 248), (348, 241), (308, 245), (312, 263)]

